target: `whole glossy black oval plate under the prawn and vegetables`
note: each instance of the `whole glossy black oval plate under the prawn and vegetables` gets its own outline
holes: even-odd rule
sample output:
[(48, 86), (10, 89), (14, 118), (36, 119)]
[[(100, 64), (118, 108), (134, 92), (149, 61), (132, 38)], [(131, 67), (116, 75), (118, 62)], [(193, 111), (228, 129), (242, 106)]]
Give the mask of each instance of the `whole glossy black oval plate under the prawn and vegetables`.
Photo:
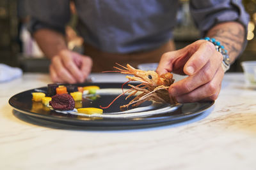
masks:
[[(97, 85), (100, 89), (120, 89), (122, 87), (122, 83), (83, 83), (77, 84), (78, 86), (86, 86), (86, 85)], [(129, 88), (127, 85), (124, 88)], [(150, 115), (148, 117), (136, 117), (136, 118), (93, 118), (93, 117), (81, 117), (77, 115), (63, 114), (58, 113), (54, 110), (50, 110), (50, 108), (45, 107), (41, 102), (32, 101), (31, 92), (36, 91), (46, 91), (47, 87), (41, 87), (38, 89), (31, 89), (24, 92), (20, 92), (19, 94), (15, 94), (9, 99), (9, 104), (20, 113), (24, 113), (26, 115), (42, 118), (44, 120), (49, 120), (52, 122), (58, 122), (63, 124), (72, 124), (72, 125), (84, 125), (84, 126), (129, 126), (129, 125), (150, 125), (150, 124), (159, 124), (166, 122), (180, 122), (182, 120), (188, 120), (189, 118), (193, 118), (196, 115), (200, 115), (205, 110), (210, 108), (214, 101), (204, 102), (204, 103), (186, 103), (182, 104), (175, 110), (172, 110), (168, 113), (164, 114), (156, 114)], [(104, 96), (100, 96), (95, 101), (84, 100), (82, 103), (83, 107), (95, 107), (99, 108), (99, 106), (108, 106), (108, 104), (115, 99), (117, 95), (106, 94)], [(104, 113), (116, 112), (120, 111), (120, 106), (123, 104), (129, 103), (129, 100), (125, 100), (125, 96), (118, 98), (118, 100), (113, 103), (111, 107), (104, 110)], [(152, 104), (151, 102), (145, 102), (140, 106), (149, 106)], [(163, 104), (163, 107), (166, 104)], [(157, 110), (156, 110), (157, 111)], [(104, 114), (103, 113), (103, 114)]]

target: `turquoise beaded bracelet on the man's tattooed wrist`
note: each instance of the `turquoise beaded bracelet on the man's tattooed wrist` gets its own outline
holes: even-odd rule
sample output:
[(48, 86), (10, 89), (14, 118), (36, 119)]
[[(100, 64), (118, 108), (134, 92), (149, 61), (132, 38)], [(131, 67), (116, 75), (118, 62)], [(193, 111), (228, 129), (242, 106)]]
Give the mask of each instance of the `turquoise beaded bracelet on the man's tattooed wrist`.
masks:
[(215, 38), (205, 37), (204, 40), (210, 41), (211, 43), (213, 43), (216, 48), (216, 51), (220, 52), (223, 55), (222, 67), (223, 67), (223, 70), (226, 72), (230, 68), (230, 59), (228, 57), (227, 50), (225, 50), (224, 46), (221, 45), (219, 41), (216, 41)]

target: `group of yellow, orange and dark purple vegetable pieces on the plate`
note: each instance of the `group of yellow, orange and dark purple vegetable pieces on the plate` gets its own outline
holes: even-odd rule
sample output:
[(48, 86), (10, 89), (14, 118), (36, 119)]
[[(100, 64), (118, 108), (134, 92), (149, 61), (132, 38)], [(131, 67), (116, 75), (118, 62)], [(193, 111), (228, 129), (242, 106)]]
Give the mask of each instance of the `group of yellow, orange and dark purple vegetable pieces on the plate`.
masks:
[[(85, 89), (85, 90), (84, 90)], [(58, 85), (57, 83), (51, 83), (47, 85), (47, 97), (45, 97), (44, 92), (32, 92), (32, 100), (36, 101), (34, 103), (39, 104), (37, 108), (58, 111), (71, 111), (74, 113), (79, 110), (80, 113), (102, 114), (103, 110), (99, 108), (83, 108), (83, 97), (92, 101), (92, 99), (97, 99), (99, 95), (96, 94), (97, 90), (100, 88), (98, 86), (86, 86), (77, 87), (76, 85)], [(39, 91), (39, 90), (36, 90)], [(42, 103), (38, 103), (38, 101)], [(43, 106), (43, 107), (42, 107)], [(77, 110), (74, 110), (76, 107)]]

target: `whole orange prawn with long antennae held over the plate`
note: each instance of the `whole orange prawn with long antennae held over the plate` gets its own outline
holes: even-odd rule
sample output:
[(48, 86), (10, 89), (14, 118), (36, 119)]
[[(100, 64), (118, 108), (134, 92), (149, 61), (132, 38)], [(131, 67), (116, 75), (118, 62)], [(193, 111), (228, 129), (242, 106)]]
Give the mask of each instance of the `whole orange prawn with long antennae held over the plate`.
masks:
[[(136, 97), (134, 97), (134, 99), (132, 99), (132, 101), (130, 101), (128, 104), (120, 106), (121, 110), (124, 110), (124, 108), (128, 108), (130, 105), (132, 105), (132, 107), (139, 106), (141, 103), (148, 100), (152, 100), (160, 103), (177, 104), (177, 101), (175, 100), (175, 98), (170, 97), (168, 93), (168, 87), (170, 87), (170, 85), (172, 85), (172, 83), (174, 82), (172, 73), (165, 73), (165, 74), (159, 75), (156, 73), (156, 71), (142, 71), (140, 69), (135, 69), (129, 64), (127, 64), (126, 67), (118, 63), (116, 64), (120, 66), (120, 67), (114, 66), (114, 68), (117, 69), (116, 71), (104, 71), (104, 72), (118, 72), (122, 74), (133, 74), (134, 76), (126, 76), (126, 78), (128, 78), (129, 81), (141, 82), (139, 85), (136, 85), (136, 86), (131, 84), (128, 85), (129, 87), (131, 87), (131, 89), (127, 90), (127, 92), (131, 92), (131, 93), (129, 94), (129, 96), (126, 97), (126, 99), (131, 96), (136, 96), (137, 92), (141, 92), (141, 93), (138, 94)], [(109, 104), (109, 106), (111, 104)], [(105, 108), (108, 108), (108, 107), (105, 107)], [(101, 107), (101, 108), (104, 108), (104, 107)]]

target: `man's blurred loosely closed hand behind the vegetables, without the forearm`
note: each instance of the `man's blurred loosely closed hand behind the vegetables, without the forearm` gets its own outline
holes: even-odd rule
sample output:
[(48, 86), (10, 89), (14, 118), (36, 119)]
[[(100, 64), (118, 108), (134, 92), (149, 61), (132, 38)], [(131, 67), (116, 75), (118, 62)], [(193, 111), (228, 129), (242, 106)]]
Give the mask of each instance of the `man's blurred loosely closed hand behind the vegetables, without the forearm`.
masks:
[(92, 59), (70, 50), (61, 50), (51, 59), (51, 79), (58, 83), (82, 83), (90, 74)]

